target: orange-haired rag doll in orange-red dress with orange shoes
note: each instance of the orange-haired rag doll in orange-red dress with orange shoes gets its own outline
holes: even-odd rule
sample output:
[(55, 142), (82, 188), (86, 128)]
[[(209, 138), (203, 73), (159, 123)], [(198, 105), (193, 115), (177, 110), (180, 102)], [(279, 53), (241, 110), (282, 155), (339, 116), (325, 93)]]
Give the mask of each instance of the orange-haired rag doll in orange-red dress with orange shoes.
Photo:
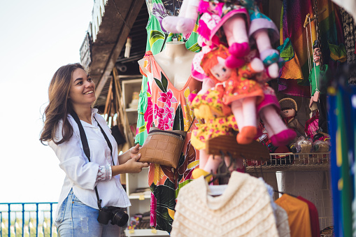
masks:
[(229, 69), (225, 66), (227, 57), (227, 48), (220, 45), (204, 55), (201, 67), (206, 76), (215, 82), (215, 89), (220, 93), (222, 103), (230, 106), (236, 118), (239, 129), (237, 142), (248, 144), (257, 135), (256, 106), (264, 99), (261, 85), (249, 78), (262, 72), (264, 66), (261, 60), (255, 58), (239, 69)]

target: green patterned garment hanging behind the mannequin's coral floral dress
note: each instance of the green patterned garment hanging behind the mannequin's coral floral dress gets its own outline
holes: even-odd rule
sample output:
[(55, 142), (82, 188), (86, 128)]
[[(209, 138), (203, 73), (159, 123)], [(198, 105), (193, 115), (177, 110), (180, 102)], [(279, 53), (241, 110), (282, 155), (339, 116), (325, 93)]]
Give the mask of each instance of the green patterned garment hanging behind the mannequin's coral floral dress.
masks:
[[(174, 2), (174, 3), (173, 3)], [(146, 51), (151, 51), (153, 55), (164, 50), (166, 42), (172, 41), (173, 36), (176, 36), (178, 41), (184, 41), (185, 46), (192, 52), (199, 52), (197, 27), (190, 34), (172, 34), (167, 32), (162, 27), (162, 20), (169, 15), (178, 14), (180, 1), (162, 1), (151, 0), (146, 1), (149, 19), (146, 26), (147, 43)], [(169, 9), (167, 9), (169, 8)], [(199, 20), (199, 19), (198, 19)], [(135, 143), (143, 145), (148, 134), (147, 120), (145, 120), (145, 111), (148, 107), (148, 80), (143, 76), (141, 92), (138, 101), (138, 119), (136, 127)]]

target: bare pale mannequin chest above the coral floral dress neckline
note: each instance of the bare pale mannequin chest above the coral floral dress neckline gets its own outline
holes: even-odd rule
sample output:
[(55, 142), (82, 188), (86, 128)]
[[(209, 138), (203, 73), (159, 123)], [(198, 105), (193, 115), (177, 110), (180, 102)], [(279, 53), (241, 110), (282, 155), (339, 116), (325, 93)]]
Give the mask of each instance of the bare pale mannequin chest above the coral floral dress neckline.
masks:
[[(185, 83), (192, 74), (192, 61), (195, 52), (187, 50), (185, 43), (182, 41), (171, 41), (166, 43), (166, 48), (154, 55), (157, 64), (166, 74), (167, 79), (173, 84), (176, 89), (183, 89)], [(138, 60), (138, 64), (144, 73), (148, 73), (143, 68), (145, 59)], [(148, 78), (150, 84), (152, 78)]]

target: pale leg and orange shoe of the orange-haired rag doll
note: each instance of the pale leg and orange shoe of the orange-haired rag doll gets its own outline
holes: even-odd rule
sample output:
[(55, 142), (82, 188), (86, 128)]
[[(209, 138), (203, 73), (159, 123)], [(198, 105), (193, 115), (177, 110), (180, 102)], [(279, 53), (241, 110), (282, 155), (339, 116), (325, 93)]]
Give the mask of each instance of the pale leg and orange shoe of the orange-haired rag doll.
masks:
[(251, 143), (257, 135), (256, 98), (248, 97), (233, 101), (231, 108), (239, 129), (236, 141), (240, 144)]

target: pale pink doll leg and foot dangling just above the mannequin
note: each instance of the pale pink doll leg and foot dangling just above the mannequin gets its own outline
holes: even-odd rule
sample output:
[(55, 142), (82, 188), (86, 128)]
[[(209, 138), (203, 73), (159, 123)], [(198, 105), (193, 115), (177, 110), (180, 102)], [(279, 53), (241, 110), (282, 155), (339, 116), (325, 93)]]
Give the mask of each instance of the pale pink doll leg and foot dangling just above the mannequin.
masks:
[(168, 16), (162, 20), (162, 26), (171, 33), (188, 34), (193, 31), (198, 18), (197, 0), (184, 0), (178, 17)]

